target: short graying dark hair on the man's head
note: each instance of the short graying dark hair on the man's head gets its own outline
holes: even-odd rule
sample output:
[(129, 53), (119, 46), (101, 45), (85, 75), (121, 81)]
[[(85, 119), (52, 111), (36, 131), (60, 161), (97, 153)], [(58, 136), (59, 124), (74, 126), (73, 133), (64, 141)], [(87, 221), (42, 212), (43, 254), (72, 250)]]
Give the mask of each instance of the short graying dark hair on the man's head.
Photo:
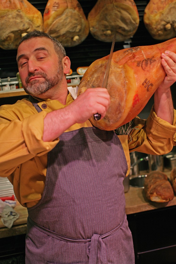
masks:
[(62, 60), (66, 56), (65, 49), (63, 45), (54, 37), (51, 37), (49, 34), (39, 31), (39, 30), (34, 30), (26, 34), (25, 36), (22, 37), (20, 42), (18, 43), (18, 46), (25, 40), (32, 39), (35, 37), (46, 37), (50, 39), (53, 42), (54, 49), (56, 51), (56, 54), (58, 54), (59, 60)]

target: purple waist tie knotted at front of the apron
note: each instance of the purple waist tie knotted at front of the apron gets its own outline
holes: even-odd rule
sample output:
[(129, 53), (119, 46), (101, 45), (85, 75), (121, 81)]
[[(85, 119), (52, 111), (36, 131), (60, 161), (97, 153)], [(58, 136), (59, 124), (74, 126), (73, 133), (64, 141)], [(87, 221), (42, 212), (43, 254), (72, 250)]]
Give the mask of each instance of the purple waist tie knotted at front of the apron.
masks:
[(109, 237), (110, 235), (115, 234), (120, 228), (122, 227), (123, 221), (125, 219), (125, 214), (123, 216), (122, 221), (120, 224), (112, 229), (110, 232), (107, 232), (106, 234), (103, 235), (98, 235), (98, 234), (93, 234), (92, 238), (88, 239), (78, 239), (78, 238), (70, 238), (66, 237), (63, 235), (60, 235), (58, 233), (55, 233), (47, 228), (42, 227), (41, 225), (35, 223), (29, 216), (27, 220), (38, 230), (41, 232), (54, 237), (56, 239), (59, 239), (61, 241), (65, 242), (72, 242), (72, 243), (86, 243), (86, 242), (91, 242), (90, 246), (87, 249), (87, 255), (89, 257), (89, 264), (97, 264), (97, 259), (100, 260), (100, 263), (107, 264), (107, 251), (106, 251), (106, 246), (103, 242), (103, 238)]

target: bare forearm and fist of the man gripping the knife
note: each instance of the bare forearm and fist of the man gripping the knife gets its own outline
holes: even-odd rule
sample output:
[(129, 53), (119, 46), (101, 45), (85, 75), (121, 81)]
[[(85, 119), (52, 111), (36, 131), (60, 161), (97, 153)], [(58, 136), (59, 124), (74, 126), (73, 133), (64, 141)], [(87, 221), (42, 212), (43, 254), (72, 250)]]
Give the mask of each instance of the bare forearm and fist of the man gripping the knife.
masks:
[(43, 141), (53, 141), (75, 123), (87, 121), (93, 114), (106, 115), (110, 95), (106, 88), (87, 89), (70, 105), (50, 112), (44, 119)]

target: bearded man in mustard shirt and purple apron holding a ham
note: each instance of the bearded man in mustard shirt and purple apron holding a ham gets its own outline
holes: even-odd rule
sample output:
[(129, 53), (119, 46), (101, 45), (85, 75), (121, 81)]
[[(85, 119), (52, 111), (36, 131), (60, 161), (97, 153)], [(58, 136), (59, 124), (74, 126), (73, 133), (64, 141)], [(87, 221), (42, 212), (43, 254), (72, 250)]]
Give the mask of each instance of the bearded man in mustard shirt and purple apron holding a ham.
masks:
[(147, 120), (117, 136), (92, 126), (110, 105), (104, 88), (68, 93), (70, 60), (62, 45), (34, 31), (20, 41), (17, 62), (29, 99), (0, 108), (2, 177), (28, 208), (27, 263), (134, 263), (123, 179), (130, 151), (164, 154), (175, 145), (170, 86), (176, 54), (161, 55), (166, 72)]

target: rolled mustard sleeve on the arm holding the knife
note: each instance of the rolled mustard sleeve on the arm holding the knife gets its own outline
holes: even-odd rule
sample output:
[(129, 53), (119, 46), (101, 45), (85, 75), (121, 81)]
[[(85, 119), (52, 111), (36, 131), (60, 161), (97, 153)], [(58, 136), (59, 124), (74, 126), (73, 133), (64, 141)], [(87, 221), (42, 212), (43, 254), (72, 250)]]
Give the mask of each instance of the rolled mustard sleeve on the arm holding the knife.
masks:
[(42, 140), (46, 112), (31, 114), (23, 120), (20, 113), (16, 113), (16, 119), (12, 113), (5, 109), (0, 111), (1, 177), (9, 176), (19, 164), (49, 152), (59, 142), (59, 139)]

